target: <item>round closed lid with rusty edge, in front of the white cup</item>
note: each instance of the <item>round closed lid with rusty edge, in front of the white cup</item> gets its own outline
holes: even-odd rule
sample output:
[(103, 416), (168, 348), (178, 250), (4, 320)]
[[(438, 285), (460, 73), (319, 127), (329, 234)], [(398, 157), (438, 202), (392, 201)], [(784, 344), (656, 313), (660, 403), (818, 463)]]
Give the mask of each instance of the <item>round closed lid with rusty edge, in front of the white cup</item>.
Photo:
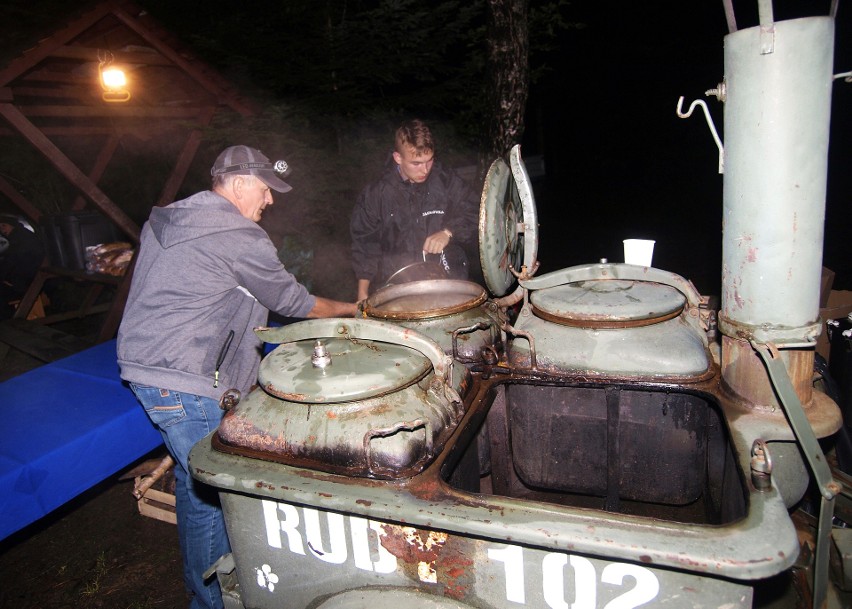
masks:
[(530, 294), (538, 317), (584, 328), (650, 325), (679, 315), (685, 303), (671, 286), (619, 279), (577, 281)]

